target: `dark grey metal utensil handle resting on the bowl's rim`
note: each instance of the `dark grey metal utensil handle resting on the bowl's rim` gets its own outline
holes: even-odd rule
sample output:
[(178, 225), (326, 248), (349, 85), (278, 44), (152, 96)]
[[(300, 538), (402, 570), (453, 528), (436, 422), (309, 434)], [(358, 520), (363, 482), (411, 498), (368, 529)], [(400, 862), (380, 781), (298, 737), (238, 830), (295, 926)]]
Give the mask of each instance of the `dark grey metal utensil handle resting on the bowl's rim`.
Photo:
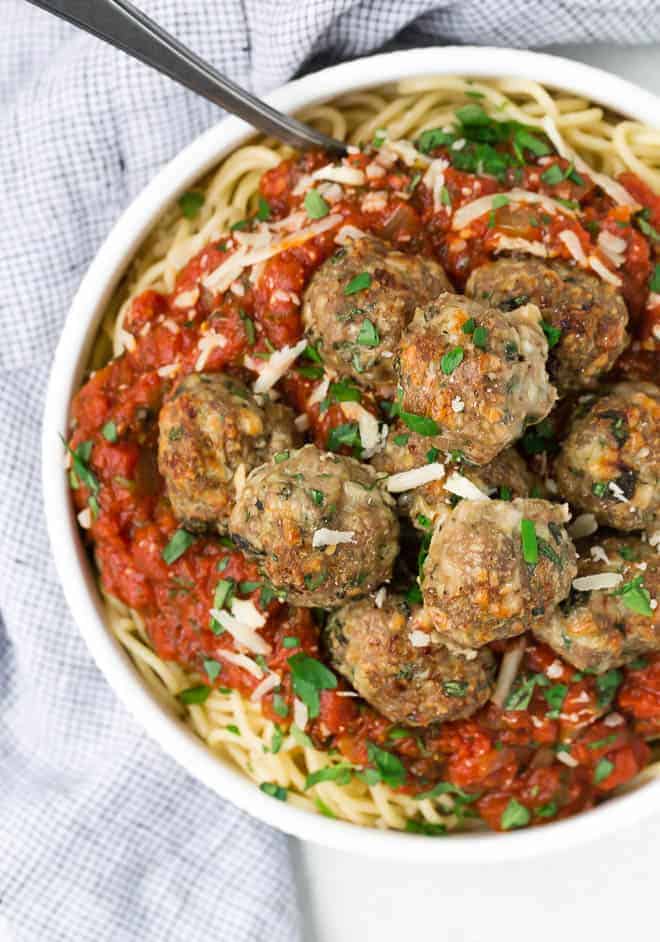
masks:
[(128, 0), (29, 0), (293, 147), (336, 154), (345, 145), (271, 108), (179, 42)]

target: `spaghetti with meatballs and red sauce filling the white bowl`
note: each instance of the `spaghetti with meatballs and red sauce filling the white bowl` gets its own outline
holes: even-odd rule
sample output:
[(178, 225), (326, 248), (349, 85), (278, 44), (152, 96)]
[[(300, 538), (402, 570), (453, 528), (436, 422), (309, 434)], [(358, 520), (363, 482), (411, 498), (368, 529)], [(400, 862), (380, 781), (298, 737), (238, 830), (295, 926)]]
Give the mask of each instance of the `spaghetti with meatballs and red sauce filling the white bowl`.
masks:
[(519, 80), (315, 115), (346, 158), (240, 148), (110, 306), (67, 451), (108, 624), (275, 799), (568, 817), (655, 768), (657, 133)]

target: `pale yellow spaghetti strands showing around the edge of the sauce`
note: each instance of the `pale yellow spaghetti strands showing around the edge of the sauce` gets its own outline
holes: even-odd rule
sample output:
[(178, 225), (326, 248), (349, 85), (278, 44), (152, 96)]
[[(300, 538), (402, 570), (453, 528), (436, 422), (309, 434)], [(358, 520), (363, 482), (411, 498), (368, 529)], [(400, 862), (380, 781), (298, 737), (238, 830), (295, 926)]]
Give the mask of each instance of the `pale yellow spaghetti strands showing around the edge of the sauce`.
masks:
[[(639, 204), (645, 203), (644, 197), (648, 198), (648, 193), (660, 193), (660, 130), (621, 120), (589, 101), (568, 93), (550, 91), (532, 81), (471, 81), (454, 77), (409, 79), (393, 86), (347, 94), (331, 103), (308, 108), (300, 117), (333, 137), (359, 148), (374, 138), (389, 142), (418, 140), (425, 131), (450, 127), (455, 121), (457, 109), (470, 105), (476, 105), (497, 121), (519, 122), (541, 134), (547, 133), (551, 140), (556, 135), (556, 141), (565, 147), (569, 159), (574, 159), (576, 166), (579, 161), (585, 162), (603, 189), (607, 183), (601, 182), (599, 174), (606, 175), (610, 181), (620, 180), (619, 188), (628, 187), (630, 192), (624, 192)], [(460, 144), (460, 141), (455, 142), (454, 146), (456, 144)], [(405, 151), (400, 149), (399, 155), (405, 162)], [(281, 161), (291, 157), (289, 149), (271, 140), (249, 143), (226, 158), (217, 170), (195, 188), (192, 195), (188, 194), (189, 199), (193, 200), (192, 208), (190, 204), (186, 205), (184, 198), (183, 202), (165, 213), (131, 263), (110, 305), (92, 354), (93, 369), (101, 369), (111, 354), (119, 357), (125, 350), (130, 351), (136, 343), (136, 336), (139, 342), (140, 336), (149, 334), (149, 317), (157, 307), (145, 313), (143, 322), (139, 318), (136, 321), (135, 317), (135, 305), (145, 303), (145, 297), (150, 299), (150, 305), (157, 305), (158, 296), (171, 295), (177, 291), (178, 297), (183, 298), (184, 302), (191, 300), (194, 304), (194, 295), (189, 299), (185, 296), (186, 291), (194, 289), (181, 284), (180, 273), (191, 260), (198, 259), (200, 255), (203, 259), (205, 248), (226, 238), (232, 227), (234, 232), (240, 233), (242, 220), (259, 214), (259, 186), (263, 175), (269, 171), (275, 172)], [(430, 165), (431, 160), (426, 160), (426, 164)], [(432, 184), (433, 180), (429, 178), (427, 186)], [(654, 212), (660, 215), (660, 200), (657, 197), (655, 200), (651, 207), (652, 218)], [(568, 216), (570, 209), (567, 210)], [(648, 225), (652, 226), (652, 223)], [(575, 239), (571, 238), (570, 231), (566, 236), (567, 231), (562, 231), (560, 241), (566, 244), (570, 252)], [(245, 245), (247, 257), (253, 252), (254, 257), (258, 258), (260, 247), (255, 248), (254, 240), (249, 244), (246, 240)], [(614, 247), (617, 248), (616, 243)], [(577, 250), (574, 249), (574, 255), (576, 251), (581, 251), (579, 244)], [(267, 257), (266, 253), (263, 261), (257, 260), (251, 266), (257, 278), (264, 270)], [(599, 257), (597, 261), (605, 270), (605, 277), (608, 274), (611, 278), (619, 277), (607, 258)], [(592, 267), (596, 270), (596, 266)], [(645, 300), (646, 307), (638, 311), (638, 317), (647, 324), (640, 335), (645, 344), (644, 350), (648, 351), (653, 347), (654, 331), (657, 336), (657, 307), (652, 300)], [(132, 317), (133, 332), (127, 329), (129, 315)], [(142, 325), (142, 331), (135, 329), (136, 323), (138, 327)], [(167, 318), (163, 324), (167, 327)], [(179, 325), (171, 323), (169, 327), (175, 337)], [(284, 339), (288, 340), (286, 337)], [(284, 345), (277, 344), (280, 347)], [(204, 363), (199, 365), (201, 361), (196, 360), (197, 369), (208, 367), (208, 363), (213, 362), (213, 356), (216, 355), (214, 349), (211, 337), (204, 348)], [(190, 353), (184, 352), (186, 355)], [(195, 357), (197, 353), (195, 351)], [(210, 368), (213, 369), (213, 365)], [(185, 372), (185, 368), (176, 362), (158, 368), (159, 376), (167, 381), (176, 379), (180, 372)], [(133, 375), (127, 374), (124, 378), (127, 386), (134, 380)], [(148, 392), (144, 393), (143, 398), (141, 407), (147, 409), (153, 399)], [(79, 441), (72, 443), (74, 448), (76, 444)], [(131, 474), (121, 466), (113, 470), (118, 477), (131, 478)], [(82, 484), (87, 483), (83, 478)], [(77, 499), (86, 494), (85, 487), (79, 487)], [(92, 494), (94, 497), (95, 494)], [(97, 502), (95, 512), (98, 510)], [(102, 520), (103, 514), (101, 523), (95, 524), (90, 514), (87, 514), (85, 520), (81, 521), (91, 524), (92, 535), (97, 541), (99, 535), (96, 531), (101, 527)], [(105, 581), (108, 562), (107, 559), (99, 562), (103, 567)], [(249, 573), (248, 576), (237, 578), (245, 581), (248, 577)], [(269, 794), (286, 797), (297, 807), (364, 826), (407, 829), (427, 834), (481, 826), (481, 820), (471, 811), (475, 799), (469, 788), (467, 792), (459, 785), (429, 789), (425, 797), (423, 791), (417, 790), (415, 794), (410, 789), (392, 787), (388, 784), (387, 776), (374, 781), (373, 776), (370, 779), (368, 775), (353, 774), (360, 767), (358, 760), (351, 761), (336, 748), (317, 748), (303, 729), (296, 723), (290, 723), (290, 717), (286, 723), (279, 722), (272, 710), (264, 711), (261, 701), (251, 698), (247, 690), (241, 692), (232, 686), (216, 684), (210, 693), (207, 691), (203, 701), (190, 702), (188, 697), (189, 702), (182, 702), (182, 692), (206, 685), (207, 677), (180, 666), (173, 658), (156, 653), (153, 637), (140, 615), (140, 605), (137, 602), (133, 605), (125, 604), (105, 589), (103, 591), (110, 629), (129, 652), (154, 695), (184, 719), (211, 750), (242, 769)], [(136, 592), (135, 597), (139, 601), (138, 595)], [(512, 650), (515, 649), (515, 669), (507, 681), (507, 690), (500, 689), (501, 683), (498, 685), (500, 702), (506, 699), (520, 666), (523, 647), (519, 643), (512, 647)], [(524, 652), (525, 658), (532, 659), (530, 664), (534, 661), (537, 670), (544, 656), (539, 650), (532, 645)], [(511, 658), (505, 655), (504, 661), (510, 667)], [(263, 670), (259, 676), (263, 679)], [(594, 693), (593, 680), (586, 678), (579, 683), (582, 686), (577, 693), (584, 694), (588, 700)], [(337, 701), (340, 696), (347, 705), (356, 697), (348, 689), (337, 693)], [(476, 729), (474, 736), (476, 739), (479, 737)], [(416, 756), (424, 764), (425, 750), (420, 746), (420, 750), (415, 752), (417, 746), (414, 744), (414, 734), (404, 731), (399, 738), (412, 743), (407, 751), (404, 749), (403, 755)], [(449, 738), (447, 733), (444, 744), (447, 750), (450, 748)], [(348, 749), (348, 753), (350, 751)], [(640, 781), (641, 777), (646, 780), (649, 775), (657, 774), (659, 769), (658, 763), (647, 765)], [(571, 813), (570, 807), (566, 813)], [(481, 812), (481, 815), (492, 823), (487, 811)]]

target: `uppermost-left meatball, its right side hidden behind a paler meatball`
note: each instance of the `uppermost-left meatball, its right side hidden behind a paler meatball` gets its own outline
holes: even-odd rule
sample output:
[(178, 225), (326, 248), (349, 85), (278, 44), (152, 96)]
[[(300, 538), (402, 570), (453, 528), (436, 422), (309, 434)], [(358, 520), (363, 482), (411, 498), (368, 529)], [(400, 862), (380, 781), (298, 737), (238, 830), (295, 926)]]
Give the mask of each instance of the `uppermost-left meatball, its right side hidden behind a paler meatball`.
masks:
[(451, 285), (437, 262), (397, 252), (380, 239), (359, 239), (314, 273), (303, 322), (330, 371), (390, 395), (401, 331), (418, 304), (443, 291)]

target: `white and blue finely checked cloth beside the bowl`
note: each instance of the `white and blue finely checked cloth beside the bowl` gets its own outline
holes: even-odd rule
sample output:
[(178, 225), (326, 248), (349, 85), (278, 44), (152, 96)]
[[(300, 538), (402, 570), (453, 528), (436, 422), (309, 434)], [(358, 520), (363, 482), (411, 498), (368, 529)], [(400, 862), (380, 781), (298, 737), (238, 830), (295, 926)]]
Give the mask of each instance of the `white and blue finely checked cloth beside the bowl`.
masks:
[[(660, 39), (645, 0), (141, 5), (256, 91), (393, 42)], [(66, 608), (40, 495), (48, 368), (76, 286), (120, 212), (219, 112), (24, 0), (0, 14), (0, 937), (295, 942), (285, 839), (126, 714)]]

